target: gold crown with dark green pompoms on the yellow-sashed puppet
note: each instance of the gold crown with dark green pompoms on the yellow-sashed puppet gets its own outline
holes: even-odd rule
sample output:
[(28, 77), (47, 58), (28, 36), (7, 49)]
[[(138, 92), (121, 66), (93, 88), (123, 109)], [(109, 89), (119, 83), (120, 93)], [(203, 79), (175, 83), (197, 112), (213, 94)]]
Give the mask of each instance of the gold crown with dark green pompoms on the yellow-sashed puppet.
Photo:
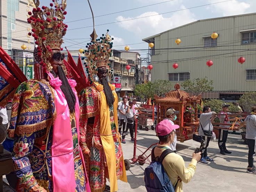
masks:
[(87, 43), (87, 50), (84, 51), (85, 67), (88, 73), (88, 78), (90, 83), (97, 81), (95, 76), (97, 74), (98, 68), (105, 66), (107, 68), (107, 73), (109, 80), (113, 78), (113, 70), (110, 68), (109, 57), (112, 55), (112, 47), (114, 38), (107, 33), (102, 34), (99, 39), (91, 40), (91, 43)]

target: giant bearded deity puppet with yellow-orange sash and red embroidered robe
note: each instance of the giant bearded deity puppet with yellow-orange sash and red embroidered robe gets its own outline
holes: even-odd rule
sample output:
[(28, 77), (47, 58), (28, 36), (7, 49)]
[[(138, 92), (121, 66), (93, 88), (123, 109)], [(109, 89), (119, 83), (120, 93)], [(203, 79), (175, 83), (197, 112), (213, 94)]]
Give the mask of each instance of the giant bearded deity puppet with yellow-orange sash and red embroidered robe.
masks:
[(101, 192), (108, 189), (106, 178), (110, 182), (110, 191), (117, 191), (117, 180), (127, 182), (127, 178), (117, 130), (118, 97), (115, 86), (109, 83), (113, 78), (109, 63), (113, 38), (108, 32), (97, 38), (95, 29), (91, 37), (84, 53), (90, 86), (79, 95), (80, 145), (91, 191)]

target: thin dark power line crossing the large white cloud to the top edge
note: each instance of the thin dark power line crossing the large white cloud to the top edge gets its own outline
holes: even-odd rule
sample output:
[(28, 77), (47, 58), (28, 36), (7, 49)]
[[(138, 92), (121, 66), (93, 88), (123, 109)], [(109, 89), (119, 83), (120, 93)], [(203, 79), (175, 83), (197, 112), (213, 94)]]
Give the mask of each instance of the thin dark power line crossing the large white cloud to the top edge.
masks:
[[(105, 24), (99, 24), (99, 25), (95, 25), (95, 26), (108, 25), (108, 24), (114, 24), (114, 23), (119, 23), (119, 22), (124, 22), (124, 21), (131, 21), (131, 20), (135, 20), (135, 19), (141, 19), (141, 18), (147, 18), (147, 17), (157, 16), (157, 15), (163, 15), (163, 14), (166, 14), (166, 13), (172, 13), (172, 12), (183, 11), (183, 10), (187, 10), (187, 9), (193, 9), (193, 8), (198, 8), (198, 7), (204, 7), (204, 6), (213, 5), (213, 4), (217, 4), (217, 3), (223, 3), (223, 2), (227, 2), (227, 1), (232, 1), (232, 0), (220, 1), (220, 2), (216, 2), (216, 3), (209, 3), (209, 4), (204, 4), (204, 5), (195, 6), (195, 7), (190, 7), (190, 8), (185, 8), (185, 9), (179, 9), (179, 10), (175, 10), (175, 11), (169, 11), (169, 12), (164, 12), (164, 13), (158, 13), (158, 14), (155, 14), (155, 15), (149, 15), (149, 16), (138, 17), (138, 18), (133, 18), (133, 19), (126, 19), (126, 20), (123, 20), (123, 21), (109, 22), (109, 23), (105, 23)], [(88, 28), (88, 27), (93, 27), (93, 26), (79, 27), (79, 28), (68, 29), (68, 30), (84, 29), (84, 28)]]

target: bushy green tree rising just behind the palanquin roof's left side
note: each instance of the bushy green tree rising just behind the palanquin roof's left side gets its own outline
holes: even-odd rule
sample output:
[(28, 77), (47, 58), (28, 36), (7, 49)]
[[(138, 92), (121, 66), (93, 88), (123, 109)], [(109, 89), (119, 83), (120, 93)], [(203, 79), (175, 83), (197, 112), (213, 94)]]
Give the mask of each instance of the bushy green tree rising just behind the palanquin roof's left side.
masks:
[(173, 85), (171, 81), (159, 79), (154, 81), (153, 89), (157, 96), (164, 97), (165, 93), (173, 90)]

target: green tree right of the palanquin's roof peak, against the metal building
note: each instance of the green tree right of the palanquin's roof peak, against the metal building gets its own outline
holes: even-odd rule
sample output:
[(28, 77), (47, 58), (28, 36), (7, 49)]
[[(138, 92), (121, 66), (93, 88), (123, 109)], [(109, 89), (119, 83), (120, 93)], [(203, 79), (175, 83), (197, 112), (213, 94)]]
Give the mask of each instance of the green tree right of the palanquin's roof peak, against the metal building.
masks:
[(209, 81), (207, 77), (186, 80), (181, 84), (181, 86), (185, 91), (192, 95), (199, 95), (207, 91), (213, 91), (213, 81)]

